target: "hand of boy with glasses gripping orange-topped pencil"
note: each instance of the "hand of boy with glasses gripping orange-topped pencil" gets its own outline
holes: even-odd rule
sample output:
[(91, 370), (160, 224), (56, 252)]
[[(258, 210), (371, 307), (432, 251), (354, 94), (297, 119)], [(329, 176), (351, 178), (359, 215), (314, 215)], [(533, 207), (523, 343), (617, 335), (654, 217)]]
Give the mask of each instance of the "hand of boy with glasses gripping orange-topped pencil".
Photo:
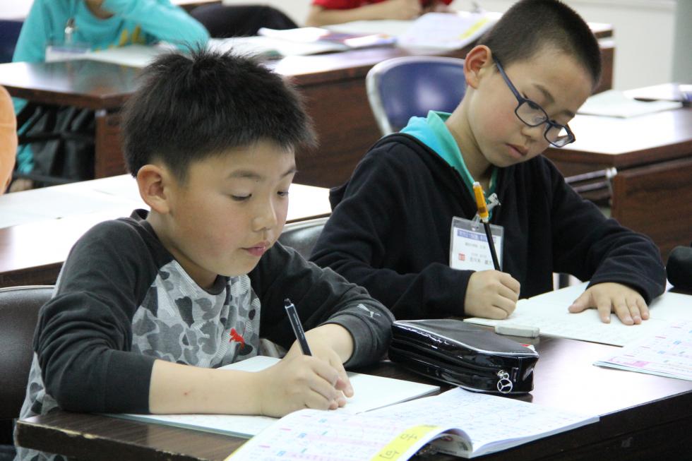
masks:
[(517, 306), (520, 284), (499, 270), (473, 273), (466, 288), (464, 311), (467, 316), (507, 318)]

